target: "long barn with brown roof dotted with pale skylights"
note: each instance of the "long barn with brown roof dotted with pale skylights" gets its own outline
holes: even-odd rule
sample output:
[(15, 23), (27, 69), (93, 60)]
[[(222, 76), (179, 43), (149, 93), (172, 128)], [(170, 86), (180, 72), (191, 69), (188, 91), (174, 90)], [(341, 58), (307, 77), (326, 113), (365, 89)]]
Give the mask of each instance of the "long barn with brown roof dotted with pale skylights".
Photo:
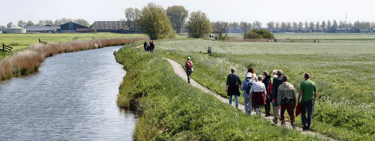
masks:
[(123, 33), (129, 31), (129, 27), (124, 21), (95, 21), (90, 29), (94, 32)]

